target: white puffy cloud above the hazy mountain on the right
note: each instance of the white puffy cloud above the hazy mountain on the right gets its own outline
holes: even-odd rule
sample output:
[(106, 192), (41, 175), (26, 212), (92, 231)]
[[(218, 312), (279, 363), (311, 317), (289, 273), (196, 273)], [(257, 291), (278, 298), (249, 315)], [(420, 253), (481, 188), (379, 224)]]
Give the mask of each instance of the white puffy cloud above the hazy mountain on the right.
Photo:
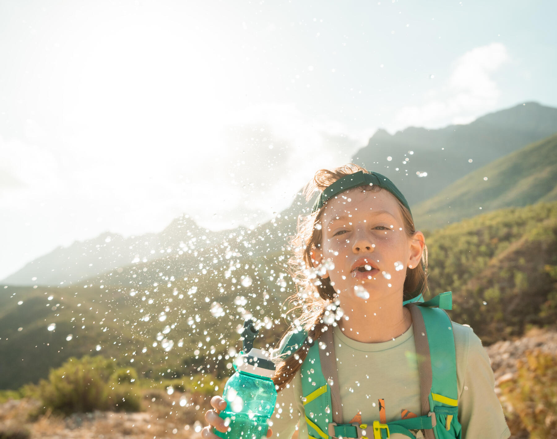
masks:
[(509, 53), (501, 43), (466, 52), (453, 62), (448, 80), (425, 93), (421, 105), (403, 107), (389, 129), (470, 123), (497, 105), (501, 92), (492, 75), (507, 61)]

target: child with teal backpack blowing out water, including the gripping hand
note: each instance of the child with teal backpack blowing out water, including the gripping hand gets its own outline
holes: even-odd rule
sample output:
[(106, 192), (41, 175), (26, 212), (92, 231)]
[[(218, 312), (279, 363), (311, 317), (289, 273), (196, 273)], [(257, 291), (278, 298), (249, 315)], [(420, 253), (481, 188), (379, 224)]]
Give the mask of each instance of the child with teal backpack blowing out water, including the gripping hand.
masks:
[[(480, 339), (437, 308), (451, 293), (423, 302), (427, 248), (402, 193), (354, 164), (317, 171), (316, 190), (292, 240), (302, 312), (275, 351), (267, 437), (509, 437)], [(226, 402), (211, 404), (212, 438)]]

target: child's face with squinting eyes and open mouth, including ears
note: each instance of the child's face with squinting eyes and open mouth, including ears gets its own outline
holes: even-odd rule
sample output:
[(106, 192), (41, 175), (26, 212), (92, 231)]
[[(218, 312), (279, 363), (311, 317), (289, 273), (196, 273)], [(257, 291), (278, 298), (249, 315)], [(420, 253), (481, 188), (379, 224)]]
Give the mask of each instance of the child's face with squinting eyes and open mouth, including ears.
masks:
[[(329, 200), (321, 226), (322, 253), (314, 253), (315, 266), (326, 260), (334, 263), (323, 277), (330, 277), (341, 298), (367, 299), (369, 294), (374, 301), (395, 293), (402, 297), (408, 265), (417, 267), (422, 257), (423, 245), (416, 238), (423, 240), (423, 235), (406, 235), (394, 195), (387, 190), (345, 191)], [(371, 272), (353, 272), (361, 258), (364, 262), (358, 265), (369, 265)], [(357, 285), (363, 289), (355, 289)]]

